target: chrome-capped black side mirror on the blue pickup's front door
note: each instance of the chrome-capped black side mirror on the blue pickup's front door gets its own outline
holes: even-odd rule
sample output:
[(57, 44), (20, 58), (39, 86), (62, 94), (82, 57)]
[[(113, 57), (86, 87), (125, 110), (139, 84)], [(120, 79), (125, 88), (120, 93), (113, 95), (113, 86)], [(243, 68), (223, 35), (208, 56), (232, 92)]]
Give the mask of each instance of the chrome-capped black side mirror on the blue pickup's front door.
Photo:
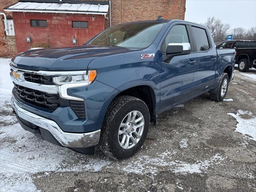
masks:
[(190, 43), (169, 43), (166, 49), (166, 55), (186, 55), (190, 52)]

